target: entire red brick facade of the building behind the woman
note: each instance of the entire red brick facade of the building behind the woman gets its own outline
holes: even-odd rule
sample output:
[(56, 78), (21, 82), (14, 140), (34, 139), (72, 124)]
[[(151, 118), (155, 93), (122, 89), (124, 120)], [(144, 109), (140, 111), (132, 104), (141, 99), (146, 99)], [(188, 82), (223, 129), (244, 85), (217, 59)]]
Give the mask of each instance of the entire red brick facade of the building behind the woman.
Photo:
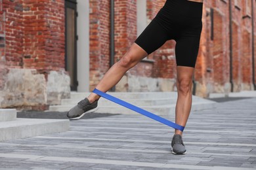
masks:
[[(137, 0), (139, 1), (139, 0)], [(136, 0), (115, 1), (115, 61), (120, 59), (137, 37)], [(90, 0), (90, 90), (109, 69), (110, 1)], [(230, 91), (230, 42), (228, 0), (205, 1), (203, 30), (195, 80), (198, 95)], [(232, 1), (232, 78), (234, 90), (251, 90), (252, 33), (251, 1)], [(246, 3), (248, 2), (248, 3)], [(147, 0), (148, 23), (163, 7), (165, 0)], [(253, 1), (254, 7), (256, 2)], [(213, 9), (211, 23), (210, 9)], [(5, 12), (5, 68), (35, 68), (39, 73), (64, 69), (64, 0), (3, 0)], [(256, 17), (256, 10), (254, 12)], [(256, 18), (255, 18), (256, 20)], [(256, 22), (255, 22), (256, 23)], [(213, 39), (211, 27), (213, 26)], [(256, 24), (255, 24), (256, 39)], [(131, 75), (176, 78), (175, 41), (167, 41), (159, 50), (131, 69)], [(3, 53), (3, 50), (1, 50)], [(256, 54), (256, 43), (255, 43)], [(255, 57), (256, 65), (256, 57)], [(255, 66), (256, 67), (256, 66)], [(255, 68), (256, 69), (256, 68)], [(1, 75), (1, 78), (3, 75)], [(256, 79), (256, 75), (255, 75)], [(0, 80), (0, 88), (3, 80)]]

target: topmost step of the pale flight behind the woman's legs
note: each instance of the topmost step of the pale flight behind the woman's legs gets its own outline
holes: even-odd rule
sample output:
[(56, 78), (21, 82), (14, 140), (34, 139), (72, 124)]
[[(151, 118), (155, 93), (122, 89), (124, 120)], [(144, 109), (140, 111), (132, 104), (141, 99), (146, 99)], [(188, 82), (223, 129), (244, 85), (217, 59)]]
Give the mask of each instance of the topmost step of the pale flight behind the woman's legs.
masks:
[[(71, 99), (84, 99), (90, 93), (71, 92)], [(120, 99), (159, 99), (174, 97), (177, 98), (177, 92), (108, 92), (108, 94)]]

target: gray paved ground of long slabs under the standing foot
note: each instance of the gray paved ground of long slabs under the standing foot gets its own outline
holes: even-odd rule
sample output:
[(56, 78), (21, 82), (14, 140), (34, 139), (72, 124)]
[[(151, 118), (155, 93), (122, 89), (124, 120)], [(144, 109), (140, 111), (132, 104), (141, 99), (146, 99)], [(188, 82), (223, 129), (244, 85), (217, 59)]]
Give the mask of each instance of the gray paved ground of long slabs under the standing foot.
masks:
[(76, 120), (65, 133), (1, 142), (0, 169), (256, 169), (255, 124), (256, 98), (192, 112), (177, 156), (173, 129), (140, 114)]

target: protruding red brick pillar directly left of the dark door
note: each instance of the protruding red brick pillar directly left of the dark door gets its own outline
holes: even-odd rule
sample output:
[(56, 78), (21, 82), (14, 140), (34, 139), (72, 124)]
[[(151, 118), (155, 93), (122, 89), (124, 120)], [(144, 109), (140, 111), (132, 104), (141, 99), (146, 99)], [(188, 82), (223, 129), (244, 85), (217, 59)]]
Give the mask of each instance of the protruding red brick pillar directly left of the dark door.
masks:
[(64, 1), (24, 1), (24, 68), (65, 67)]

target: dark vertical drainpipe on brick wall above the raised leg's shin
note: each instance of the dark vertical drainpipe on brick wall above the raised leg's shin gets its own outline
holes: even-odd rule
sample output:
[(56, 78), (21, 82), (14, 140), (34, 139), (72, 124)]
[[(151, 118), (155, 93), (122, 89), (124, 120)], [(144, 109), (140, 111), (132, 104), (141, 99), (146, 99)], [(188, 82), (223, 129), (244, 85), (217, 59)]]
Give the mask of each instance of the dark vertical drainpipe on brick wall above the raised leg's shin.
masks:
[[(114, 65), (115, 58), (115, 35), (114, 35), (114, 21), (115, 21), (115, 5), (114, 0), (110, 1), (110, 67)], [(111, 92), (116, 91), (116, 86), (110, 89)]]

